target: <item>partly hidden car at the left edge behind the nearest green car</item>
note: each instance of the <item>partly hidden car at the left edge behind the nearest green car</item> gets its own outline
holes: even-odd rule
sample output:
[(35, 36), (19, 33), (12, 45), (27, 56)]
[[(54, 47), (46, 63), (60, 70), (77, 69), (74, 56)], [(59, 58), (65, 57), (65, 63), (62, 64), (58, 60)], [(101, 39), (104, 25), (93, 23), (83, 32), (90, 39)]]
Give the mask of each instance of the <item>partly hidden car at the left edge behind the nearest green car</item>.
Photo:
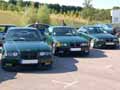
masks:
[(0, 24), (0, 46), (2, 46), (2, 39), (10, 27), (16, 27), (13, 24)]

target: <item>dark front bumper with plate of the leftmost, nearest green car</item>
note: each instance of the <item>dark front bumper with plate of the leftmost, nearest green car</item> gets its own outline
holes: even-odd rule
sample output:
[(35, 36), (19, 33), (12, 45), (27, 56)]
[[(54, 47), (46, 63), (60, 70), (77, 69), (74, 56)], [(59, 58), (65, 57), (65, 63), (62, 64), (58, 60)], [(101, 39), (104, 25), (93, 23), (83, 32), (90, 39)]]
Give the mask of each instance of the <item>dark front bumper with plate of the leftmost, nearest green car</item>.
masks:
[[(36, 62), (36, 61), (38, 61), (38, 62)], [(7, 57), (7, 58), (2, 58), (1, 62), (2, 62), (2, 64), (5, 64), (6, 67), (28, 66), (28, 65), (34, 65), (34, 66), (41, 66), (42, 67), (43, 65), (44, 66), (45, 65), (46, 66), (51, 65), (53, 63), (53, 57), (52, 56), (39, 57), (38, 59), (31, 59), (31, 60), (10, 58), (10, 57), (8, 58)]]

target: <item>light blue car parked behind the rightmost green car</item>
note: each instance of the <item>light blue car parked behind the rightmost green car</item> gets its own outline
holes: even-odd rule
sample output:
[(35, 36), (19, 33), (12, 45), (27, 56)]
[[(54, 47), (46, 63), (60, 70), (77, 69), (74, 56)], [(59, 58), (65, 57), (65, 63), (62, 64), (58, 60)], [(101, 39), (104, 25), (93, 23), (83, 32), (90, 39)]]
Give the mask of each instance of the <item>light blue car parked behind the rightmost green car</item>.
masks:
[(103, 31), (106, 31), (110, 34), (113, 34), (113, 26), (112, 24), (96, 24), (95, 26), (103, 28)]

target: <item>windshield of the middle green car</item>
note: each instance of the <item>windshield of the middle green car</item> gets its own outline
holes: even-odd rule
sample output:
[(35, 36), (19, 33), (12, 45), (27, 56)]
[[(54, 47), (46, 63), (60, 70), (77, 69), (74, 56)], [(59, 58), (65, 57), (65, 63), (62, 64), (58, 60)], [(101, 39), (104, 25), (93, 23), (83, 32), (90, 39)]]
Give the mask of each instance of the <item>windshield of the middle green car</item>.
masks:
[(54, 36), (73, 36), (76, 35), (74, 28), (59, 27), (53, 29)]

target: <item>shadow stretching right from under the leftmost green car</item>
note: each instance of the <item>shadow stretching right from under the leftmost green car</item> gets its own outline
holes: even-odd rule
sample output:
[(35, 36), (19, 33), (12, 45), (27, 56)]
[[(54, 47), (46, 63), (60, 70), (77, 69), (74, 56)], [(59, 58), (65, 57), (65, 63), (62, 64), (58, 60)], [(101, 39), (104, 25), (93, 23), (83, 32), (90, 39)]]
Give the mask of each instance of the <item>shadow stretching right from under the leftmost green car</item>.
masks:
[(55, 56), (52, 69), (48, 70), (24, 70), (21, 73), (35, 73), (35, 74), (53, 74), (53, 73), (67, 73), (78, 70), (75, 65), (78, 61), (74, 58), (59, 58)]

